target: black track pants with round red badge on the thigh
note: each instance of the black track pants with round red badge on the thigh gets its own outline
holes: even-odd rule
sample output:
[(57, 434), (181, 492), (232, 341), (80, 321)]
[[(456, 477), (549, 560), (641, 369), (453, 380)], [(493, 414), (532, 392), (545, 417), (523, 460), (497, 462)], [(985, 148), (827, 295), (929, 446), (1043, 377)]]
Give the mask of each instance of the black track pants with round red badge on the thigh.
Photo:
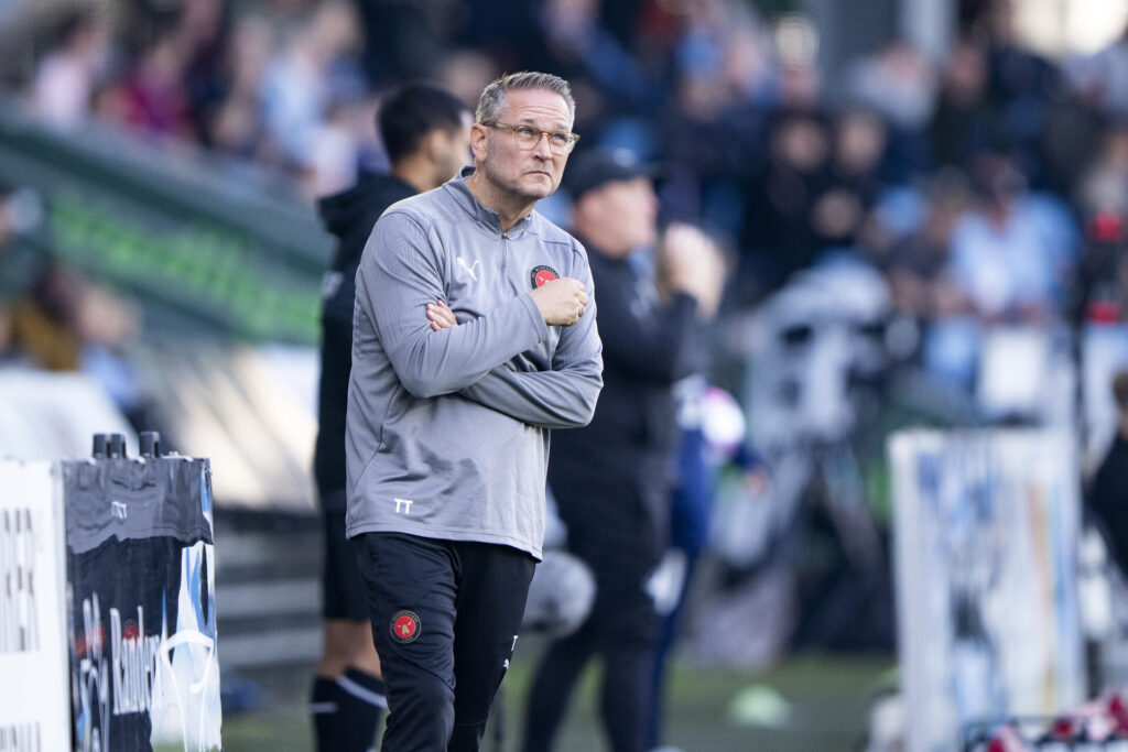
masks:
[(387, 687), (382, 752), (477, 750), (535, 560), (491, 543), (399, 533), (353, 540)]

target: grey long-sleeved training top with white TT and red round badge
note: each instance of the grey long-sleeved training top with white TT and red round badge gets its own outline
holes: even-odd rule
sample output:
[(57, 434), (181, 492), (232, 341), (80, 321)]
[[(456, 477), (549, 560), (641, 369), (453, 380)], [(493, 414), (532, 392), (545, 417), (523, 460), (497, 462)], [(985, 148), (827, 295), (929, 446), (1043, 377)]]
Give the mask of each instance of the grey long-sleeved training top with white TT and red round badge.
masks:
[[(473, 168), (393, 204), (356, 272), (345, 453), (349, 537), (404, 532), (540, 558), (548, 430), (585, 425), (602, 386), (588, 255), (537, 212), (502, 232)], [(570, 327), (529, 292), (587, 285)], [(426, 304), (458, 326), (432, 331)]]

